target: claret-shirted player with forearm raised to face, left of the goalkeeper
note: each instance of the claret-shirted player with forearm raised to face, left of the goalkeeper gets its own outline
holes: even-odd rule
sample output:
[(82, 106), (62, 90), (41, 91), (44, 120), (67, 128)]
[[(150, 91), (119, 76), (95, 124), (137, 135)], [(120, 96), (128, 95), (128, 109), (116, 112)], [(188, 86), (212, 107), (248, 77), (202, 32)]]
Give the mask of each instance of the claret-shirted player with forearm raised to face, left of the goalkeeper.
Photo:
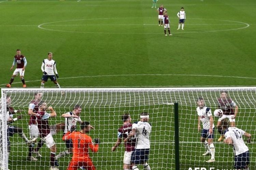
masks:
[[(47, 113), (47, 109), (49, 109), (51, 113)], [(39, 106), (39, 111), (37, 112), (37, 126), (41, 139), (45, 142), (47, 148), (50, 148), (51, 150), (50, 170), (58, 170), (58, 168), (55, 167), (56, 145), (51, 134), (51, 128), (48, 124), (48, 118), (56, 116), (57, 114), (54, 109), (52, 107), (47, 108), (46, 103), (43, 103), (41, 106)]]

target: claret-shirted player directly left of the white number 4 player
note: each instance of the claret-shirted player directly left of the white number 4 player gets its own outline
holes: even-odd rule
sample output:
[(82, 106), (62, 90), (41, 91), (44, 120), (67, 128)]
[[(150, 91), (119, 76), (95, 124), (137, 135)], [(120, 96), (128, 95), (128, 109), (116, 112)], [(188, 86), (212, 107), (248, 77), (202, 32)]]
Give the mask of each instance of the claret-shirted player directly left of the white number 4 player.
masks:
[[(117, 141), (115, 145), (112, 147), (112, 152), (116, 150), (116, 148), (122, 143), (122, 139), (128, 137), (132, 129), (131, 117), (129, 114), (125, 114), (122, 116), (122, 120), (124, 122), (123, 126), (118, 129)], [(124, 170), (130, 169), (131, 162), (131, 154), (136, 146), (136, 137), (132, 138), (125, 144), (125, 154), (124, 154)]]

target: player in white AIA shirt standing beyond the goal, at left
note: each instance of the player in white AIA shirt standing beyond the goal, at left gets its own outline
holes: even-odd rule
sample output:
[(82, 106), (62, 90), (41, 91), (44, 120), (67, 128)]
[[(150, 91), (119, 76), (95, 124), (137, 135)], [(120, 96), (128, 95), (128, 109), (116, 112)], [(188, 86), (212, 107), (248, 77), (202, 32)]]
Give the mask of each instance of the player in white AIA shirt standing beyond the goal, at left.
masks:
[(57, 82), (57, 78), (59, 78), (59, 74), (56, 69), (56, 62), (52, 59), (53, 53), (48, 52), (48, 58), (43, 60), (41, 70), (43, 71), (43, 77), (41, 81), (41, 88), (44, 88), (44, 83), (47, 82), (48, 78), (54, 82), (55, 86), (60, 88), (59, 83)]

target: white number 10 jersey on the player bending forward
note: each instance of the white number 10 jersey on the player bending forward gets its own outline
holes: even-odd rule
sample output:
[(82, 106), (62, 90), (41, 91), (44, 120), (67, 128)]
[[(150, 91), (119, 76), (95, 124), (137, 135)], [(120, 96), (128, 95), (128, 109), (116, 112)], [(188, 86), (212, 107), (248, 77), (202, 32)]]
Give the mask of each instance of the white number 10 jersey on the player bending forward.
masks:
[(245, 132), (243, 130), (236, 127), (228, 128), (228, 131), (225, 133), (226, 139), (229, 137), (232, 139), (235, 155), (239, 155), (249, 150), (248, 147), (245, 145), (242, 137), (244, 133)]

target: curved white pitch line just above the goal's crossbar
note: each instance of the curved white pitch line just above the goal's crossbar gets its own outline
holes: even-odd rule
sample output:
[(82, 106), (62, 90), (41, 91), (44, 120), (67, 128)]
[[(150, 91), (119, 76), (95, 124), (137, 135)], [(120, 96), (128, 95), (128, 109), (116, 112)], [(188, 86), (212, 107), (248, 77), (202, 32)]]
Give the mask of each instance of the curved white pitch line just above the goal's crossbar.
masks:
[[(132, 77), (132, 76), (193, 76), (193, 77), (239, 78), (239, 79), (253, 79), (253, 80), (256, 79), (254, 77), (240, 77), (240, 76), (228, 76), (228, 75), (201, 75), (201, 74), (120, 74), (120, 75), (114, 74), (114, 75), (85, 75), (85, 76), (77, 76), (77, 77), (64, 77), (64, 78), (59, 78), (59, 80), (78, 79), (78, 78), (99, 78), (99, 77)], [(41, 79), (40, 80), (29, 80), (26, 82), (38, 82), (38, 81), (41, 81)], [(15, 82), (12, 84), (18, 84), (18, 83), (20, 83), (20, 82)], [(6, 85), (6, 84), (0, 84), (0, 86), (4, 86), (4, 85)]]

